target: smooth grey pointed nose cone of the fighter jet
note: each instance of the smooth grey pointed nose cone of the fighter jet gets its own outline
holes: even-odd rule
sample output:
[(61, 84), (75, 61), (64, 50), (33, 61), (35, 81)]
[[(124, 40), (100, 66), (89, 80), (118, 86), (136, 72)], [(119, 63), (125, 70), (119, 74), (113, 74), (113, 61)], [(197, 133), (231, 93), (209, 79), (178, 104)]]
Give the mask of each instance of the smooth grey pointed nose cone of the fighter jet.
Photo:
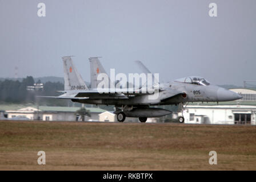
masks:
[(217, 97), (219, 101), (234, 101), (242, 98), (238, 93), (223, 88), (218, 89)]

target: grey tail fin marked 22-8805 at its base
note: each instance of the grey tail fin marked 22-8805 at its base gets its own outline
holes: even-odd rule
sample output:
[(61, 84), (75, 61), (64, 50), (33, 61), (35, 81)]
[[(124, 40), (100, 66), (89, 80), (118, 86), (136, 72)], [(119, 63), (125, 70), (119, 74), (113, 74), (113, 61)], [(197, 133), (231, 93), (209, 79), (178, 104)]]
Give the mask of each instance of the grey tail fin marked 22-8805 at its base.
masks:
[(75, 68), (71, 56), (62, 57), (64, 68), (64, 90), (87, 90), (81, 75)]

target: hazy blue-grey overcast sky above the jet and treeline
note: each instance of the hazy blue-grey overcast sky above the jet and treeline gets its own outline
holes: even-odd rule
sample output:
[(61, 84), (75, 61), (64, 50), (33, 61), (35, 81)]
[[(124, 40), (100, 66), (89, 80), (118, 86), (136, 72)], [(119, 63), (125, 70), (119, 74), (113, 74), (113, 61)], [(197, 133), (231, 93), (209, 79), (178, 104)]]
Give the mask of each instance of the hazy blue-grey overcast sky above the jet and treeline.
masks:
[[(38, 17), (37, 5), (46, 5)], [(217, 17), (209, 4), (217, 4)], [(256, 80), (256, 1), (0, 0), (0, 77), (63, 77), (62, 56), (90, 81), (90, 56), (107, 72), (160, 80), (202, 76), (214, 84)]]

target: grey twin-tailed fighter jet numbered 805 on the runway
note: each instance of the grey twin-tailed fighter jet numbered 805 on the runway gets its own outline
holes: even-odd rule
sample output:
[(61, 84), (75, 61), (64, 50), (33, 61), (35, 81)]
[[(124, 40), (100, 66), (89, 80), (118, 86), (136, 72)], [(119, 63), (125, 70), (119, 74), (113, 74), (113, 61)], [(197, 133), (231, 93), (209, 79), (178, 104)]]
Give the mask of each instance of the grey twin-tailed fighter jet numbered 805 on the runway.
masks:
[[(127, 92), (127, 89), (98, 89), (101, 82), (98, 75), (106, 71), (102, 67), (99, 57), (90, 57), (91, 70), (91, 88), (89, 89), (74, 67), (71, 56), (62, 57), (64, 68), (65, 87), (61, 96), (39, 96), (60, 99), (70, 99), (73, 102), (95, 105), (114, 105), (115, 114), (119, 122), (125, 121), (126, 117), (138, 117), (139, 121), (146, 122), (150, 117), (162, 117), (171, 114), (172, 111), (155, 108), (150, 106), (158, 105), (179, 105), (183, 113), (184, 105), (188, 102), (219, 102), (233, 101), (242, 98), (239, 94), (221, 88), (217, 85), (210, 84), (203, 77), (189, 76), (174, 80), (171, 82), (155, 82), (153, 90), (142, 92), (145, 85), (137, 88), (132, 88)], [(149, 69), (136, 61), (144, 73), (151, 73)], [(106, 80), (110, 83), (111, 80)], [(155, 89), (157, 85), (157, 90)], [(130, 88), (129, 88), (130, 89)], [(126, 91), (126, 92), (125, 92)], [(153, 91), (153, 92), (152, 92)], [(150, 99), (150, 96), (158, 92), (158, 97)], [(179, 122), (184, 122), (184, 117), (179, 117)]]

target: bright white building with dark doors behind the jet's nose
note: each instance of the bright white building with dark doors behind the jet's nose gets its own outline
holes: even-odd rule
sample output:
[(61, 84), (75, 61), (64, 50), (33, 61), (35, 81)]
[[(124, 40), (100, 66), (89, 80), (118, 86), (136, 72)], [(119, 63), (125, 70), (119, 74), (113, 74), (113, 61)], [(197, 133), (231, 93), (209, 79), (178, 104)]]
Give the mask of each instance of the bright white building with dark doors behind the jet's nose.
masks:
[(256, 125), (256, 91), (245, 88), (230, 90), (241, 94), (243, 98), (219, 104), (189, 104), (183, 111), (185, 123)]

